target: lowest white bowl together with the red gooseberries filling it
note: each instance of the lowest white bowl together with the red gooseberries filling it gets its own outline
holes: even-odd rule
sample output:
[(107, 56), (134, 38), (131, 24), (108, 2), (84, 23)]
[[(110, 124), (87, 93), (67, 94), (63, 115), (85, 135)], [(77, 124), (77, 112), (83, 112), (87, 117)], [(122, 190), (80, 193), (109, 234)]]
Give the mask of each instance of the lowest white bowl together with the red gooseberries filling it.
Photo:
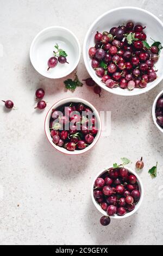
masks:
[(110, 166), (99, 172), (91, 188), (92, 201), (97, 210), (104, 216), (115, 219), (133, 215), (140, 208), (143, 195), (139, 175), (123, 166)]

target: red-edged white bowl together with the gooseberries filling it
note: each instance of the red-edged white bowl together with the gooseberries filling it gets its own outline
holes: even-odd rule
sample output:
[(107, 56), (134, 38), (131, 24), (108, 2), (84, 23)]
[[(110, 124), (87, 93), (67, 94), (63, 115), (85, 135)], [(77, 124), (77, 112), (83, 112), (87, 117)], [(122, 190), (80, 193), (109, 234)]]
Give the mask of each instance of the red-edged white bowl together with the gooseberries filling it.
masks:
[(45, 119), (45, 133), (51, 145), (67, 155), (90, 150), (101, 135), (97, 109), (79, 97), (68, 97), (55, 103)]

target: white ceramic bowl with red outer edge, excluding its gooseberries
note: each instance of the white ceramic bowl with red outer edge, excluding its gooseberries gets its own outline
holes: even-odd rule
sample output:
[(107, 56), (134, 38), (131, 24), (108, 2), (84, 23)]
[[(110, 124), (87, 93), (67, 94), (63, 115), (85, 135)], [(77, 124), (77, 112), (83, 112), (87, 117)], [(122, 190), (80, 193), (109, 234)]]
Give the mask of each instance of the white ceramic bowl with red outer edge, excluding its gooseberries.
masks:
[[(97, 117), (97, 121), (98, 121), (98, 126), (99, 126), (99, 129), (98, 129), (98, 132), (97, 132), (97, 135), (94, 139), (94, 141), (92, 142), (92, 144), (90, 144), (88, 147), (86, 147), (85, 149), (82, 149), (82, 150), (75, 150), (75, 151), (68, 151), (67, 149), (65, 148), (61, 148), (57, 145), (55, 145), (53, 142), (52, 142), (52, 137), (51, 137), (51, 133), (49, 131), (49, 121), (51, 119), (51, 114), (52, 114), (52, 109), (57, 109), (59, 108), (60, 106), (62, 105), (66, 105), (68, 102), (82, 102), (84, 103), (87, 107), (91, 108), (92, 111), (94, 112), (94, 114), (96, 115)], [(57, 149), (58, 151), (60, 151), (61, 153), (65, 153), (67, 155), (79, 155), (79, 154), (83, 154), (85, 153), (86, 151), (90, 150), (91, 148), (93, 148), (93, 146), (97, 143), (100, 135), (101, 135), (101, 129), (102, 129), (102, 126), (101, 126), (101, 119), (99, 117), (99, 114), (98, 114), (98, 111), (97, 109), (88, 101), (84, 100), (84, 99), (80, 99), (79, 97), (67, 97), (66, 99), (63, 99), (63, 100), (60, 100), (58, 101), (57, 103), (55, 103), (48, 111), (47, 115), (46, 115), (46, 119), (45, 119), (45, 133), (46, 133), (46, 137), (48, 139), (48, 141), (51, 143), (51, 145), (53, 146), (53, 148)]]

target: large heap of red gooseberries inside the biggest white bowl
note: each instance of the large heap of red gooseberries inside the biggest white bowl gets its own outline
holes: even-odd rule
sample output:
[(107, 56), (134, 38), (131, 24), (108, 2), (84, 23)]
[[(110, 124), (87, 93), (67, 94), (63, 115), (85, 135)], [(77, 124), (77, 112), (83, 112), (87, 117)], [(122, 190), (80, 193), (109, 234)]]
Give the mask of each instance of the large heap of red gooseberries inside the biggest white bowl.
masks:
[(95, 46), (89, 48), (89, 56), (92, 68), (106, 87), (145, 88), (157, 78), (154, 64), (160, 49), (146, 47), (147, 35), (143, 29), (128, 22), (126, 26), (95, 34)]

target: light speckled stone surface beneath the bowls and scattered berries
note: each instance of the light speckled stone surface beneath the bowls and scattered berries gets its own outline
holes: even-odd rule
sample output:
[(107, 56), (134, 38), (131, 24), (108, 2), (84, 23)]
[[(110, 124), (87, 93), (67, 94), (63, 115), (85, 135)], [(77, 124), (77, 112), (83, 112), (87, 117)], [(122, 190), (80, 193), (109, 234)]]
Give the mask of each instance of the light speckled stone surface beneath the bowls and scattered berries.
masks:
[[(66, 92), (65, 79), (43, 78), (29, 60), (30, 44), (41, 29), (65, 26), (83, 45), (96, 17), (128, 5), (152, 11), (163, 21), (161, 0), (1, 0), (0, 99), (12, 99), (17, 107), (8, 112), (0, 106), (1, 245), (162, 245), (163, 135), (153, 124), (151, 108), (163, 83), (140, 96), (103, 91), (99, 99), (86, 86)], [(81, 80), (88, 76), (82, 57), (78, 75)], [(48, 102), (41, 113), (34, 110), (38, 87), (46, 89)], [(72, 95), (94, 103), (98, 111), (111, 111), (111, 135), (101, 137), (93, 150), (76, 157), (55, 151), (43, 129), (48, 108)], [(133, 161), (133, 168), (143, 156), (145, 168), (140, 176), (145, 198), (137, 214), (102, 227), (101, 214), (91, 202), (91, 182), (97, 172), (122, 156)], [(152, 180), (148, 169), (156, 161), (158, 178)]]

